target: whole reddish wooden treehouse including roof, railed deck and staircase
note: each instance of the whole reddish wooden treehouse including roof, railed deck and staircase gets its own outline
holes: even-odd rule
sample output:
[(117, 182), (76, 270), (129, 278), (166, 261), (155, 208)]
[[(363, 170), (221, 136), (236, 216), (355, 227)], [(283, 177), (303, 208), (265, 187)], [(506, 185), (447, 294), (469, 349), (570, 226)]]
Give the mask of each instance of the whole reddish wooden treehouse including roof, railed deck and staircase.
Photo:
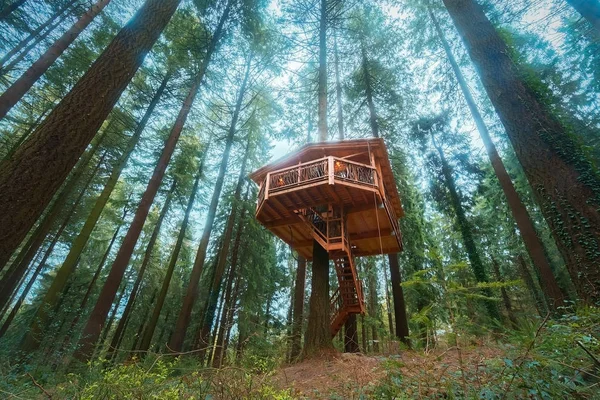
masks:
[(307, 260), (313, 241), (334, 261), (331, 334), (365, 303), (355, 257), (398, 253), (403, 215), (382, 139), (311, 143), (250, 178), (260, 189), (256, 219)]

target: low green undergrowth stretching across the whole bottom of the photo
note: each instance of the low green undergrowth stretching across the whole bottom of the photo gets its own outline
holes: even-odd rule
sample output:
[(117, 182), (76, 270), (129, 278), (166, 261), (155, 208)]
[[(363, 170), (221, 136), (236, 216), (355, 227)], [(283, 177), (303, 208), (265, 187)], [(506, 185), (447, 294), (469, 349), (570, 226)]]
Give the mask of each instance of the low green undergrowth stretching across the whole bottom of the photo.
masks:
[(219, 370), (201, 368), (191, 356), (158, 354), (67, 374), (2, 365), (0, 393), (25, 399), (594, 399), (600, 398), (599, 337), (597, 308), (521, 320), (518, 329), (485, 340), (459, 332), (456, 342), (440, 340), (434, 350), (371, 357), (384, 373), (340, 393), (331, 390), (335, 382), (329, 389), (284, 387), (275, 379), (285, 373), (277, 360), (251, 352), (239, 367)]

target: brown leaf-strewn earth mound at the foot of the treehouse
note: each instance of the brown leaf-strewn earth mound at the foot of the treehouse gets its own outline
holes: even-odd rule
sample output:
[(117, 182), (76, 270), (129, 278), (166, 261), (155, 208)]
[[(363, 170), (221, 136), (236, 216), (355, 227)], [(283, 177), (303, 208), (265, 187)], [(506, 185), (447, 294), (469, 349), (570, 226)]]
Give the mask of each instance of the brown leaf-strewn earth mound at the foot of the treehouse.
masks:
[[(385, 397), (381, 390), (385, 390), (387, 380), (405, 386), (408, 398), (436, 397), (445, 395), (445, 382), (456, 381), (461, 369), (475, 374), (479, 386), (485, 386), (491, 377), (480, 367), (502, 360), (505, 355), (504, 349), (489, 346), (463, 349), (460, 355), (455, 347), (431, 352), (405, 350), (387, 356), (344, 353), (284, 366), (275, 372), (271, 382), (279, 390), (288, 390), (294, 398), (359, 399), (376, 393), (377, 397)], [(471, 387), (471, 391), (475, 390)]]

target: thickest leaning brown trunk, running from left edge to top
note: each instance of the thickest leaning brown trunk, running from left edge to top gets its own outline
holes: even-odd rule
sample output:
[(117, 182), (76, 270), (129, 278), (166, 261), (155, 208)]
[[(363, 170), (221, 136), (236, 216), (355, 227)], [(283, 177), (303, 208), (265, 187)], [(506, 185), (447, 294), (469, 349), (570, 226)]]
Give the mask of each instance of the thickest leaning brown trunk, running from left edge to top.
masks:
[(42, 214), (181, 0), (147, 0), (23, 146), (0, 164), (0, 265)]

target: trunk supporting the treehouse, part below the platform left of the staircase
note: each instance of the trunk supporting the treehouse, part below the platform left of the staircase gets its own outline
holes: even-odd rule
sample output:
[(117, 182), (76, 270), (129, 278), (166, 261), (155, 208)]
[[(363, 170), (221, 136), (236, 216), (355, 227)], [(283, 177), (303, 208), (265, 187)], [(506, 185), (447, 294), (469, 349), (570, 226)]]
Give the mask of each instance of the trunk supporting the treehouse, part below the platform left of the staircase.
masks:
[(311, 292), (303, 358), (334, 350), (329, 311), (329, 253), (313, 240)]

